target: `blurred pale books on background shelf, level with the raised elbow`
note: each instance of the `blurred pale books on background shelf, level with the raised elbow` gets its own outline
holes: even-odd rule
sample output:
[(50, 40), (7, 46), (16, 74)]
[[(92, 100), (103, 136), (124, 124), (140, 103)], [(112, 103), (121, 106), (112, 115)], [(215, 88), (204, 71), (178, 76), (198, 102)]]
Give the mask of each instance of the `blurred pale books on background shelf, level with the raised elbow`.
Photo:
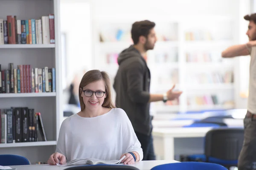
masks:
[(186, 62), (221, 62), (220, 53), (194, 52), (186, 53)]

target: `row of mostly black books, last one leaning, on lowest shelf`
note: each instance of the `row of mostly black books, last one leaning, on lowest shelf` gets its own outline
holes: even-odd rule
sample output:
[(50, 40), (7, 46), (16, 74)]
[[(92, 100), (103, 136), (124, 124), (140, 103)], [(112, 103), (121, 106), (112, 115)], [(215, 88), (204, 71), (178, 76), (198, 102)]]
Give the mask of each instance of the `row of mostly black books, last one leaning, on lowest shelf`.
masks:
[(1, 143), (38, 142), (38, 130), (43, 141), (47, 141), (42, 116), (35, 109), (0, 109)]

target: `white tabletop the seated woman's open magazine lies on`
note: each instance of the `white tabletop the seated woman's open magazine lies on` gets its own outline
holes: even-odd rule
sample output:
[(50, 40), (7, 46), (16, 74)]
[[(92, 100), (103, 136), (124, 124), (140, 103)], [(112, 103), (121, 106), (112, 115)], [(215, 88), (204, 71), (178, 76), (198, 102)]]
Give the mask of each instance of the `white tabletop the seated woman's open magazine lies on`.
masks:
[[(168, 164), (168, 163), (176, 163), (178, 161), (175, 160), (162, 160), (162, 161), (140, 161), (135, 164), (130, 164), (129, 166), (137, 167), (140, 170), (151, 170), (152, 167), (155, 167), (160, 164)], [(17, 170), (64, 170), (70, 166), (58, 167), (57, 165), (49, 165), (49, 164), (33, 164), (33, 165), (17, 165), (17, 166), (9, 166), (12, 168), (16, 168)]]

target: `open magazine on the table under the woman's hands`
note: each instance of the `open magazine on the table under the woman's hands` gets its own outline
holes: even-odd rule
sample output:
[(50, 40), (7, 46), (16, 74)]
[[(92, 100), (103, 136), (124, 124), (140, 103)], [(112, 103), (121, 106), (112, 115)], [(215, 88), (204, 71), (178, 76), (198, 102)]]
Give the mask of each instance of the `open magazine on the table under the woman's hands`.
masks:
[(119, 160), (111, 160), (111, 161), (104, 161), (104, 160), (100, 160), (100, 159), (94, 159), (94, 158), (90, 158), (90, 159), (74, 159), (72, 161), (68, 161), (64, 164), (57, 164), (57, 166), (59, 167), (64, 167), (70, 164), (75, 164), (75, 163), (84, 163), (84, 164), (119, 164), (121, 163), (121, 161), (125, 158), (125, 156), (123, 156), (121, 159)]

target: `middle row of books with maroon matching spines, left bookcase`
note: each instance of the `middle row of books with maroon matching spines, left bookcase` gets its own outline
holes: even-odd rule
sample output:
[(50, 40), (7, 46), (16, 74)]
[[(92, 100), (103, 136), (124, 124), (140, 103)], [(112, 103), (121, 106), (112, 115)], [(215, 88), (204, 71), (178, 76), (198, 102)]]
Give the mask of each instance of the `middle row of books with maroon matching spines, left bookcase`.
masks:
[(9, 63), (9, 68), (1, 70), (0, 93), (42, 93), (56, 92), (55, 68), (31, 68), (30, 65)]

